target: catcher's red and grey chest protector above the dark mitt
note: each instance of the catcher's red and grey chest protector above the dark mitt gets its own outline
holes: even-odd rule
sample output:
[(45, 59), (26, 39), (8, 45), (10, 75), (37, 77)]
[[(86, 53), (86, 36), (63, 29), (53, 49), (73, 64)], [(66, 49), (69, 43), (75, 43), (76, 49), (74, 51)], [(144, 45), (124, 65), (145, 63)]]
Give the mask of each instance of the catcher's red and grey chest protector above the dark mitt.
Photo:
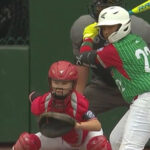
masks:
[[(88, 101), (76, 92), (72, 92), (65, 100), (54, 100), (52, 96), (47, 95), (45, 106), (48, 111), (63, 112), (77, 121), (82, 121), (82, 116), (88, 111)], [(47, 109), (45, 107), (45, 110)]]

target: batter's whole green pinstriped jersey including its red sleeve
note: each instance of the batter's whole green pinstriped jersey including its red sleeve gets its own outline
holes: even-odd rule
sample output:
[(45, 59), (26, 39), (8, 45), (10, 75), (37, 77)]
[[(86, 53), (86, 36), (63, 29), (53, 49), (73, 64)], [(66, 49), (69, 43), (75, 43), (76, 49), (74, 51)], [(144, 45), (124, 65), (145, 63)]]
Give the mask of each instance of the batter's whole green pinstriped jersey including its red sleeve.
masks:
[(122, 40), (99, 49), (105, 67), (111, 67), (124, 99), (132, 99), (150, 91), (150, 50), (142, 38), (129, 34)]

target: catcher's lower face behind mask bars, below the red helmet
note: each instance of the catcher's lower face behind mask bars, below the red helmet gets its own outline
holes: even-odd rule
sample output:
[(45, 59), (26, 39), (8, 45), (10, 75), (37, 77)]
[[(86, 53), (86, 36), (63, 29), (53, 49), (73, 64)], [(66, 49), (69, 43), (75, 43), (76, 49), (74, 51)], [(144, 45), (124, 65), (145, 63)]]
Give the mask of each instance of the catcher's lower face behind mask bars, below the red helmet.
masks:
[(56, 98), (64, 99), (73, 90), (73, 81), (52, 79), (51, 88)]

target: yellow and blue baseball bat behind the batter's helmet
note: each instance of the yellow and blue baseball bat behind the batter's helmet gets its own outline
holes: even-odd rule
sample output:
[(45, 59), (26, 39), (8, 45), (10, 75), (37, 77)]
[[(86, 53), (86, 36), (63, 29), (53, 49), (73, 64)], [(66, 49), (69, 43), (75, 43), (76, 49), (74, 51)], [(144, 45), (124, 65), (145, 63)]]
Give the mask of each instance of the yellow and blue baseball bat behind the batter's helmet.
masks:
[(129, 10), (129, 14), (138, 14), (144, 11), (150, 10), (150, 0), (147, 0), (146, 2), (134, 7), (133, 9)]

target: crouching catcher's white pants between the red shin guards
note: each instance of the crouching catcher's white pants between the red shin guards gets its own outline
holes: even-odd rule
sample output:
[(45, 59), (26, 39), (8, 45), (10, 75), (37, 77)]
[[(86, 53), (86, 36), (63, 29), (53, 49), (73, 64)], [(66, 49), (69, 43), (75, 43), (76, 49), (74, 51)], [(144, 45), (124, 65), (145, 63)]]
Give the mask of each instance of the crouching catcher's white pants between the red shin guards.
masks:
[(57, 138), (47, 138), (43, 136), (40, 132), (36, 134), (41, 141), (40, 150), (87, 150), (86, 146), (91, 138), (98, 135), (103, 135), (103, 131), (90, 131), (84, 141), (84, 143), (77, 148), (71, 147), (67, 144), (61, 137)]

